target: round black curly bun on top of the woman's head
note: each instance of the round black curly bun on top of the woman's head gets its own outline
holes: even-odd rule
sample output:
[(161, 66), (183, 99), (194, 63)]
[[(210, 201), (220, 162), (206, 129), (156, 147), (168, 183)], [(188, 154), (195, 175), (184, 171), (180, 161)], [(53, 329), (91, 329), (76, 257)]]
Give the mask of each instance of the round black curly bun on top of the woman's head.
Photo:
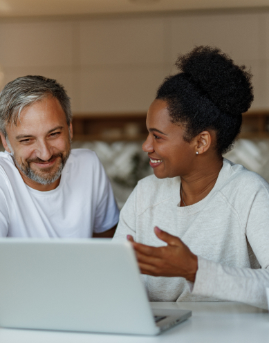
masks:
[(176, 66), (221, 112), (238, 115), (250, 108), (252, 74), (245, 66), (236, 66), (219, 48), (196, 46), (179, 55)]

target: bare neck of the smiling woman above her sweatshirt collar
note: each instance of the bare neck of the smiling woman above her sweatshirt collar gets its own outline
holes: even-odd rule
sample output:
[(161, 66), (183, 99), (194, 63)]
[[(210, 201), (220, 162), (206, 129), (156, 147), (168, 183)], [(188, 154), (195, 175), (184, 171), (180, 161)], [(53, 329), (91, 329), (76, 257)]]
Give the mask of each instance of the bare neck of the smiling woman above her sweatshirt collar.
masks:
[(222, 166), (221, 157), (215, 163), (201, 163), (189, 176), (181, 176), (180, 206), (193, 205), (203, 200), (213, 189)]

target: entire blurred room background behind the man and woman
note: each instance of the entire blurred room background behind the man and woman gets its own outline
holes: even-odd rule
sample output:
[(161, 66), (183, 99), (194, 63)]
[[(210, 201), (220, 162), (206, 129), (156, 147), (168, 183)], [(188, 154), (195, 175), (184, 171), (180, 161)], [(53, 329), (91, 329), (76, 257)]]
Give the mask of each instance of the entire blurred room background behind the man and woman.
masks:
[(0, 0), (0, 88), (24, 75), (62, 83), (73, 147), (97, 152), (120, 207), (151, 173), (141, 145), (156, 89), (201, 44), (252, 70), (254, 103), (226, 157), (269, 181), (268, 0)]

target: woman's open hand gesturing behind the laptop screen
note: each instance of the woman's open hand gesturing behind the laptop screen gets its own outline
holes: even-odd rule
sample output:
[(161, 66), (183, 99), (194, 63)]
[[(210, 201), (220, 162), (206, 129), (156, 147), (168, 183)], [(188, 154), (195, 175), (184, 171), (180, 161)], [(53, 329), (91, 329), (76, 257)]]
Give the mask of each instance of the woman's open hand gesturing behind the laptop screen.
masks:
[(198, 269), (197, 256), (178, 237), (160, 230), (157, 226), (154, 232), (159, 239), (167, 243), (166, 246), (151, 247), (136, 243), (131, 235), (127, 236), (136, 251), (141, 273), (154, 277), (185, 277), (194, 282)]

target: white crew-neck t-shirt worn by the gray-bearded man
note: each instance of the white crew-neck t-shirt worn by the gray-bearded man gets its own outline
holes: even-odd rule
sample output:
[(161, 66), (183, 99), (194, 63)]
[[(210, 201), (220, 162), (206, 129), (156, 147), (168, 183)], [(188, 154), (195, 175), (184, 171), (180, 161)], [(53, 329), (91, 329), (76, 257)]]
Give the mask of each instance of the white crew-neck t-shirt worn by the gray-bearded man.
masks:
[(73, 149), (59, 186), (28, 187), (8, 152), (0, 153), (0, 237), (92, 237), (118, 223), (111, 184), (95, 152)]

